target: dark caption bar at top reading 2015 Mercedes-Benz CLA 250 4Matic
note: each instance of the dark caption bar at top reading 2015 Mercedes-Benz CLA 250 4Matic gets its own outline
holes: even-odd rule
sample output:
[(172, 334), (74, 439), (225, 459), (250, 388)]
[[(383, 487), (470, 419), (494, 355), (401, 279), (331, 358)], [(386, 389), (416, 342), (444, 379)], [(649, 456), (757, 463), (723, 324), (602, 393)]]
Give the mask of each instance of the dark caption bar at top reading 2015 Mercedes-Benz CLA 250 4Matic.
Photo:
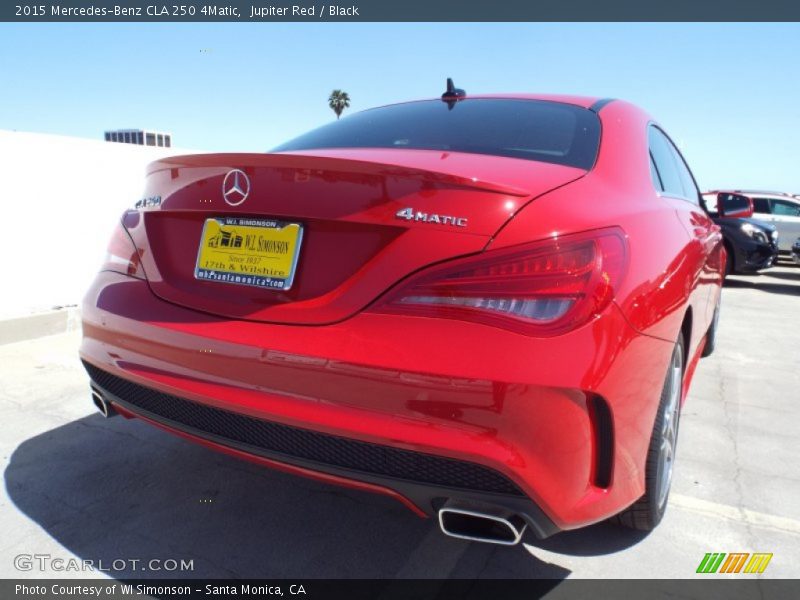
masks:
[[(333, 7), (333, 10), (332, 10)], [(76, 10), (77, 9), (77, 10)], [(80, 10), (83, 9), (83, 10)], [(203, 10), (206, 9), (206, 10)], [(235, 10), (233, 10), (235, 9)], [(254, 14), (255, 11), (255, 14)], [(13, 0), (6, 22), (800, 21), (797, 0)], [(469, 44), (471, 40), (447, 40)]]

